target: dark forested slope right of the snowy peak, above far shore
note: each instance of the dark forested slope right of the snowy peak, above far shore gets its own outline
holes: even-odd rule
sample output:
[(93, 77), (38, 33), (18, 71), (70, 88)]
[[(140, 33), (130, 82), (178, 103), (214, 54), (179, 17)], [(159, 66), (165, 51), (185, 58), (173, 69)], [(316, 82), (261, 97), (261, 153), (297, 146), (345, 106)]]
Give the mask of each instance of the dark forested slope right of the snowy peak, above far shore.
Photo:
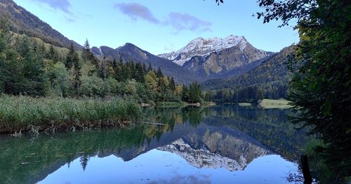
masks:
[(287, 69), (296, 46), (282, 49), (255, 69), (233, 79), (212, 79), (202, 84), (207, 98), (218, 103), (258, 103), (259, 99), (286, 98), (291, 72)]

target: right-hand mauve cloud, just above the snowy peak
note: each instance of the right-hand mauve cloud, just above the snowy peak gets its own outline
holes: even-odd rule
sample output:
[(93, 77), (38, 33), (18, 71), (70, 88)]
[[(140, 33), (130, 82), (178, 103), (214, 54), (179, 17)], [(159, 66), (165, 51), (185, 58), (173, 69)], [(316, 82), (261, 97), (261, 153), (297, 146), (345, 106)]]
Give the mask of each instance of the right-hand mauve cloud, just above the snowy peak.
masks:
[(192, 15), (187, 13), (178, 13), (171, 12), (168, 15), (168, 21), (170, 25), (172, 25), (178, 32), (182, 30), (190, 30), (190, 31), (211, 31), (211, 22), (200, 20)]

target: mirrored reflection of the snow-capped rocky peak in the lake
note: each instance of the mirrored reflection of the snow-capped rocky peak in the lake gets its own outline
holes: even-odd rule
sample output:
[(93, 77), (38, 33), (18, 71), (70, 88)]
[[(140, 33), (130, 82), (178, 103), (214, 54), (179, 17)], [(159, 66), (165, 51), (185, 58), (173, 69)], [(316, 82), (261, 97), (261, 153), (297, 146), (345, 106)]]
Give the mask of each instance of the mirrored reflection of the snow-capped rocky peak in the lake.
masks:
[[(218, 132), (207, 132), (200, 139), (201, 143), (185, 143), (180, 138), (157, 147), (157, 150), (173, 152), (197, 168), (225, 168), (229, 171), (242, 171), (253, 159), (268, 153), (263, 147)], [(198, 140), (198, 137), (193, 135), (191, 140)]]

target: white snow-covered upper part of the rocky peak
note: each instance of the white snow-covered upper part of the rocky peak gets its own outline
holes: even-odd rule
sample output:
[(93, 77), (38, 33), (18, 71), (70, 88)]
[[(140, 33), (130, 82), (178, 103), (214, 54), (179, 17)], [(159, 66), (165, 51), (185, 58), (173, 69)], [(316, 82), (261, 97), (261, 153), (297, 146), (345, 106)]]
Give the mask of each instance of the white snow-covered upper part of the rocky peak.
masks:
[(233, 46), (239, 46), (241, 51), (244, 51), (247, 40), (245, 37), (237, 37), (230, 35), (224, 39), (214, 37), (211, 39), (197, 38), (190, 41), (187, 46), (180, 48), (179, 51), (160, 54), (161, 58), (173, 60), (178, 65), (184, 65), (185, 62), (190, 60), (195, 55), (206, 57), (213, 52), (221, 51), (225, 48), (231, 48)]

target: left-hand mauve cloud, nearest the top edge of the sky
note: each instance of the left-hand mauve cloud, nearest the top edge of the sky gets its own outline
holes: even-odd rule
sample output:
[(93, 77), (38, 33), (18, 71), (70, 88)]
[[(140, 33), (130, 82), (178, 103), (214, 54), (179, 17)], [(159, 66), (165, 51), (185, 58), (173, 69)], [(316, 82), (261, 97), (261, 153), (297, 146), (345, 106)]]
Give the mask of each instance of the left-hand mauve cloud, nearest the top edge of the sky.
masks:
[(138, 18), (141, 18), (154, 24), (159, 24), (160, 22), (157, 18), (154, 17), (149, 8), (141, 4), (114, 4), (114, 8), (118, 8), (119, 11), (121, 11), (121, 13), (128, 15), (128, 17), (130, 17), (132, 20), (137, 20)]

